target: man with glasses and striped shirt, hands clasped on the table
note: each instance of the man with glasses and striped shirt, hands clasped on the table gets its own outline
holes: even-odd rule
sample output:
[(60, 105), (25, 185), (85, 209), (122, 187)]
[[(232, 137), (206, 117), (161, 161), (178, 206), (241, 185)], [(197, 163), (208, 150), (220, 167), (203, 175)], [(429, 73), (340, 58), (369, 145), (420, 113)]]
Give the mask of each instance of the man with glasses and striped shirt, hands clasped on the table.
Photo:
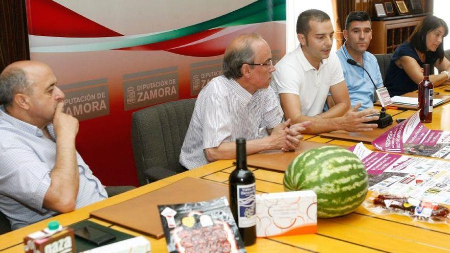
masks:
[(310, 122), (281, 123), (283, 112), (269, 87), (275, 67), (267, 42), (257, 34), (236, 37), (224, 54), (222, 70), (198, 95), (179, 162), (190, 170), (235, 158), (238, 137), (247, 140), (247, 154), (294, 150)]

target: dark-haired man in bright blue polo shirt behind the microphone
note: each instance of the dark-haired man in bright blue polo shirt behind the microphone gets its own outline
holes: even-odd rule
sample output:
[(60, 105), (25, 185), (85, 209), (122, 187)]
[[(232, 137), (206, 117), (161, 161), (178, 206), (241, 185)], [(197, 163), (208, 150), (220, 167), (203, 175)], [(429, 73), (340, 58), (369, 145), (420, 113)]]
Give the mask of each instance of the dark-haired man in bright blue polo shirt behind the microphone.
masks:
[(358, 110), (373, 107), (375, 87), (369, 75), (362, 67), (347, 62), (347, 59), (353, 59), (359, 63), (369, 72), (377, 88), (383, 87), (378, 62), (373, 54), (366, 51), (372, 39), (371, 21), (367, 12), (350, 12), (343, 32), (346, 42), (336, 51), (336, 54), (341, 61), (350, 95), (350, 103), (355, 106), (358, 102), (361, 102), (361, 107)]

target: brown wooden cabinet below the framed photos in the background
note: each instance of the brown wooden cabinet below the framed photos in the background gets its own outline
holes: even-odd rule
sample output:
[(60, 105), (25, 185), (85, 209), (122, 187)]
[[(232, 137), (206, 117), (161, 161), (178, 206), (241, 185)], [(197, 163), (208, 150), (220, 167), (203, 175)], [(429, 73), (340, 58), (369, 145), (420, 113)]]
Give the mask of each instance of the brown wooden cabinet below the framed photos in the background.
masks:
[(390, 54), (408, 39), (420, 20), (426, 14), (403, 18), (391, 17), (389, 19), (372, 21), (372, 41), (368, 49), (372, 54)]

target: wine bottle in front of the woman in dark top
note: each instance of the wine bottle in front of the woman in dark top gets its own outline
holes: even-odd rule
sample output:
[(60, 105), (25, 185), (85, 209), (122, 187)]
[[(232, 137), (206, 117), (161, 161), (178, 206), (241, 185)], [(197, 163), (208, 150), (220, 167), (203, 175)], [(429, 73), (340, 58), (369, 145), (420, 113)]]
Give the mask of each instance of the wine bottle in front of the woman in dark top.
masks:
[(420, 122), (433, 120), (433, 83), (430, 81), (430, 65), (423, 64), (423, 80), (419, 83), (419, 103), (417, 104)]

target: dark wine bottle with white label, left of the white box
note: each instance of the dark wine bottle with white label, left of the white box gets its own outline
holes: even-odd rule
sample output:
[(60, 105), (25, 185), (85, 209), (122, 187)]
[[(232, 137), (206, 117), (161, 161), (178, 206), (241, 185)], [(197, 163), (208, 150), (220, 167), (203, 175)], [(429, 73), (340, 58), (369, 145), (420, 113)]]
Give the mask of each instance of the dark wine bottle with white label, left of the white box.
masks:
[(236, 140), (236, 169), (230, 174), (230, 208), (245, 246), (256, 242), (255, 175), (247, 168), (245, 139)]

